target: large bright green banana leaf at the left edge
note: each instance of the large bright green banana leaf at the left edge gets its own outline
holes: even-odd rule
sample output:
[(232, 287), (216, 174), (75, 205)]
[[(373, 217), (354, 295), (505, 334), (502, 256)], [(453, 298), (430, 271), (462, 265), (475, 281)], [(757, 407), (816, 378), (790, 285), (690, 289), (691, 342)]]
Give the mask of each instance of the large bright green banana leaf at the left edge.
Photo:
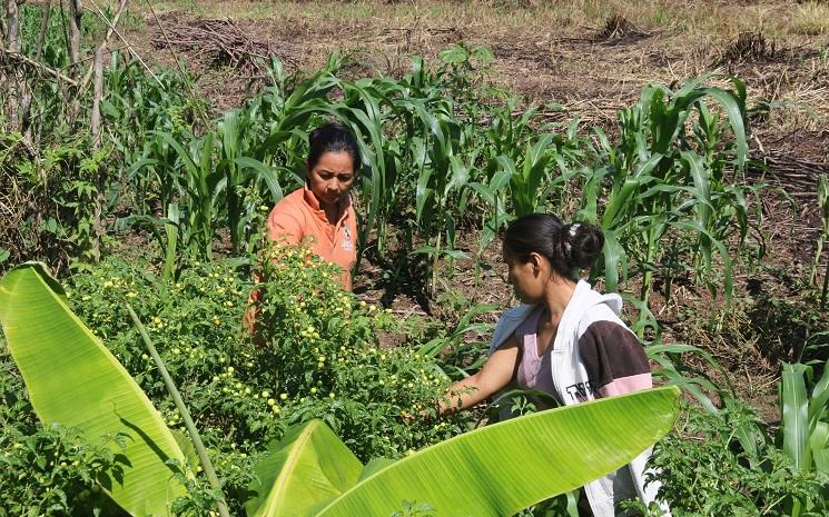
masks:
[(185, 488), (165, 461), (184, 465), (181, 449), (127, 370), (69, 309), (43, 265), (24, 264), (0, 281), (0, 324), (40, 420), (75, 427), (92, 444), (129, 436), (126, 449), (116, 449), (129, 461), (124, 478), (98, 483), (136, 517), (170, 515), (169, 504)]

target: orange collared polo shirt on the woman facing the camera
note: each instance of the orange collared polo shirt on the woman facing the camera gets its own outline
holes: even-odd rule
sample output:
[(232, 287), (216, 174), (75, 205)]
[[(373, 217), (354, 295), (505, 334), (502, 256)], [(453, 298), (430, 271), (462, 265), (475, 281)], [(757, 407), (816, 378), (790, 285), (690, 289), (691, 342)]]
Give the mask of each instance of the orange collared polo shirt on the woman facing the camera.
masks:
[(349, 196), (341, 200), (341, 212), (336, 225), (328, 222), (317, 197), (303, 187), (285, 196), (270, 211), (268, 237), (289, 245), (308, 243), (323, 260), (343, 268), (343, 287), (351, 290), (352, 268), (357, 261), (357, 215)]

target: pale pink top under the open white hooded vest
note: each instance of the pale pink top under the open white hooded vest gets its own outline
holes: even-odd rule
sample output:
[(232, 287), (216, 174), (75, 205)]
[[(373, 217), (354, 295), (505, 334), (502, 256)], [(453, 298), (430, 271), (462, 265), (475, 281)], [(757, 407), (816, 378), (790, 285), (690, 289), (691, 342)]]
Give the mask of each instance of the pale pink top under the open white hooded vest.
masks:
[[(550, 357), (553, 347), (547, 347), (546, 351), (539, 356), (539, 319), (543, 310), (544, 306), (539, 305), (524, 322), (515, 329), (515, 341), (521, 351), (516, 384), (521, 389), (537, 389), (557, 399)], [(539, 407), (539, 409), (545, 408)]]

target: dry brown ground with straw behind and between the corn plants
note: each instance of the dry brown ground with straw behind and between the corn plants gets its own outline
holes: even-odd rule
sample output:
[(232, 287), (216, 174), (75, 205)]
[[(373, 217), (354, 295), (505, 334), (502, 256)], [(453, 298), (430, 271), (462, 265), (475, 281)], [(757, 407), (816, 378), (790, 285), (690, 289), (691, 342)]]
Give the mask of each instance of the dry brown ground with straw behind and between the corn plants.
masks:
[[(779, 196), (763, 200), (758, 229), (769, 248), (768, 267), (739, 277), (738, 297), (750, 296), (758, 281), (797, 296), (768, 271), (808, 261), (819, 231), (817, 177), (829, 172), (827, 2), (179, 0), (140, 9), (144, 23), (128, 32), (128, 41), (149, 62), (186, 63), (217, 111), (238, 106), (261, 83), (261, 72), (246, 61), (250, 54), (276, 54), (292, 72), (319, 68), (332, 51), (348, 52), (359, 63), (355, 73), (399, 74), (413, 56), (436, 58), (461, 41), (485, 44), (495, 54), (494, 83), (525, 96), (529, 105), (561, 105), (563, 112), (549, 115), (555, 120), (578, 117), (583, 127), (611, 131), (616, 111), (634, 103), (649, 82), (738, 74), (749, 92), (752, 157), (771, 168), (752, 168), (747, 181), (784, 187), (798, 203), (792, 209)], [(491, 262), (497, 264), (496, 252)], [(378, 265), (364, 266), (359, 296), (385, 301), (403, 317), (430, 311), (451, 319), (452, 307), (465, 302), (510, 300), (497, 269), (461, 268), (435, 304), (405, 289), (383, 290), (375, 281)], [(778, 364), (758, 351), (756, 337), (711, 335), (683, 321), (689, 310), (719, 310), (721, 300), (680, 288), (671, 300), (654, 295), (653, 304), (665, 339), (672, 334), (698, 339), (692, 344), (711, 351), (739, 380), (741, 395), (776, 419)], [(739, 334), (743, 324), (727, 327)]]

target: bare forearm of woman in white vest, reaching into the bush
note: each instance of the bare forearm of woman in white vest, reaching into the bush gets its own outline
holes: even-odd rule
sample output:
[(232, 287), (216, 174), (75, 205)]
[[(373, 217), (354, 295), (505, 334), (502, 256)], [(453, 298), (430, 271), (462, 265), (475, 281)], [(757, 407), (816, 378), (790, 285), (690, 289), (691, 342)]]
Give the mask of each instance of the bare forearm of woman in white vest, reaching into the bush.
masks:
[(448, 387), (446, 397), (437, 402), (438, 415), (457, 412), (490, 398), (512, 380), (517, 364), (519, 347), (511, 337), (490, 356), (481, 370)]

